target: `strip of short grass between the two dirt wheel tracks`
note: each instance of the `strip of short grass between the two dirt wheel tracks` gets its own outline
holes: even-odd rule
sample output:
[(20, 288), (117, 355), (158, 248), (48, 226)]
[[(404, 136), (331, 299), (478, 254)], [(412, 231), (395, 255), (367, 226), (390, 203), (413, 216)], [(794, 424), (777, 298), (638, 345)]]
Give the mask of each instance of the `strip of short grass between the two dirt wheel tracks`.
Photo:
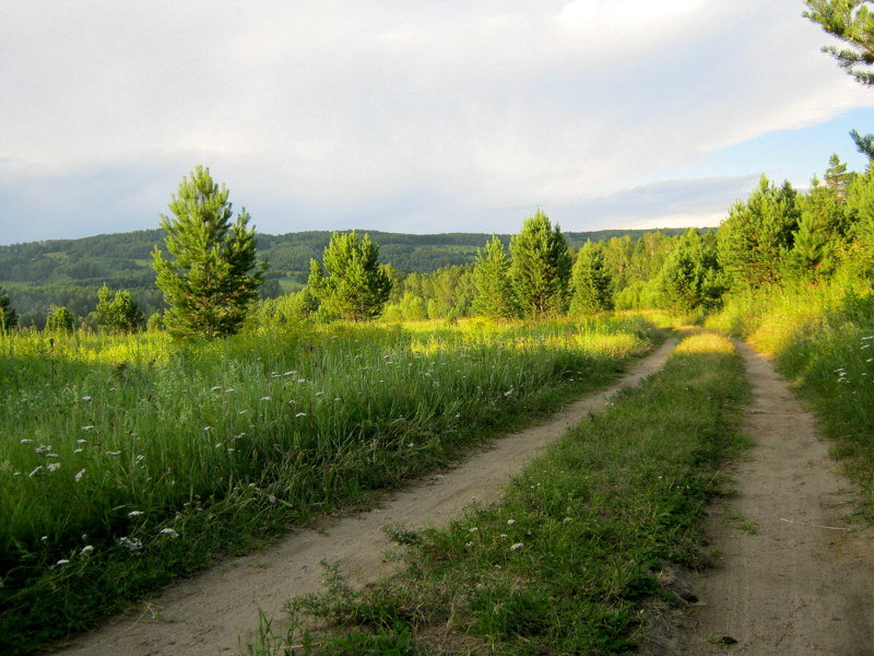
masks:
[(392, 529), (401, 575), (290, 606), (244, 653), (629, 654), (657, 573), (694, 565), (717, 469), (739, 448), (746, 384), (731, 342), (687, 338), (665, 368), (582, 422), (518, 476), (500, 505), (446, 529)]

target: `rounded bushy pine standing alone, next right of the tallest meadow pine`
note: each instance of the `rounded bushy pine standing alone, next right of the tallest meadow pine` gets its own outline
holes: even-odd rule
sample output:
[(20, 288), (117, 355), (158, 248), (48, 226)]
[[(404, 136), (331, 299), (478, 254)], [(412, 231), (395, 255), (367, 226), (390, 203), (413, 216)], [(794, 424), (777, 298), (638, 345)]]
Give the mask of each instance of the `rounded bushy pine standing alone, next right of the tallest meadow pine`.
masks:
[(369, 235), (334, 233), (322, 265), (310, 261), (312, 294), (324, 308), (344, 319), (366, 321), (378, 317), (391, 293), (391, 279), (379, 265), (379, 246)]

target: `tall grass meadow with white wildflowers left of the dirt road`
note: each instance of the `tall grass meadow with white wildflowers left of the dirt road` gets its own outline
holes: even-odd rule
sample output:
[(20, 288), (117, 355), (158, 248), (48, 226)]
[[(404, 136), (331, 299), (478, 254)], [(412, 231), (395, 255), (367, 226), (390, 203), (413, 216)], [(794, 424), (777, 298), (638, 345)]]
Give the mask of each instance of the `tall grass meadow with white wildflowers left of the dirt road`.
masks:
[(367, 503), (605, 385), (634, 318), (0, 336), (0, 652), (32, 652), (290, 524)]

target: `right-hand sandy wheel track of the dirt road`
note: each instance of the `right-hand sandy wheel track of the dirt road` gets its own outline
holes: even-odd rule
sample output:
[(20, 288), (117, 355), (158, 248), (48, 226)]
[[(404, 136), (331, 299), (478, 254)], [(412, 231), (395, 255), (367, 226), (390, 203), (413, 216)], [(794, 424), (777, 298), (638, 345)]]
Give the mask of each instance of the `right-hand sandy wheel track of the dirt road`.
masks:
[(699, 601), (666, 653), (871, 656), (874, 535), (843, 522), (852, 487), (813, 417), (765, 356), (739, 349), (753, 385), (745, 432), (755, 446), (731, 467), (736, 496), (711, 509), (717, 567), (693, 577)]

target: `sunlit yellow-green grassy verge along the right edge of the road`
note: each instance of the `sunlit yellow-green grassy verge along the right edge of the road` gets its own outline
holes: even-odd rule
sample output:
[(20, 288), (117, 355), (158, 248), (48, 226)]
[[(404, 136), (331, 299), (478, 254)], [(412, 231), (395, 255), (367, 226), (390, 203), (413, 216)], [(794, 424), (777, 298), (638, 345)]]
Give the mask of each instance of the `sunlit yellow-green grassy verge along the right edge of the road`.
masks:
[(834, 440), (874, 519), (874, 294), (842, 284), (731, 298), (709, 321), (772, 355)]

